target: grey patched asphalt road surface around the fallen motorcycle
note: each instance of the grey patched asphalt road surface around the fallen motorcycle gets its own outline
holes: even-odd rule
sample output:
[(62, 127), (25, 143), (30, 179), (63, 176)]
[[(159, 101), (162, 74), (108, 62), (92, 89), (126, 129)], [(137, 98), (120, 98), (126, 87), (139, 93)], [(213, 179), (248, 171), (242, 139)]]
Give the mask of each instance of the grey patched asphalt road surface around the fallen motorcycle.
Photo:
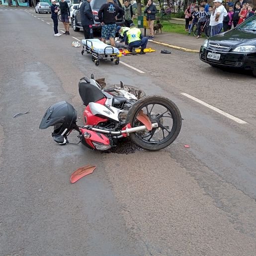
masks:
[[(121, 58), (144, 73), (96, 67), (72, 47), (83, 32), (54, 37), (50, 14), (0, 7), (0, 23), (0, 255), (256, 255), (255, 78), (152, 43)], [(184, 119), (175, 142), (127, 155), (54, 143), (38, 128), (45, 110), (67, 100), (81, 117), (78, 81), (91, 73), (171, 98)], [(71, 184), (87, 164), (93, 174)]]

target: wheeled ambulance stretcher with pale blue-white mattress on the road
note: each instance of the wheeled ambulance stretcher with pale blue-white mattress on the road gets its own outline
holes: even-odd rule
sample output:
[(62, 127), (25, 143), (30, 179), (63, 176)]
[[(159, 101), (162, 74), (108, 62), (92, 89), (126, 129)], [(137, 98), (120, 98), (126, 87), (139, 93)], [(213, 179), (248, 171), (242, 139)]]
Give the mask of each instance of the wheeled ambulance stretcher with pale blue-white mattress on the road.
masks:
[(95, 63), (96, 66), (99, 65), (100, 60), (110, 60), (114, 61), (115, 65), (119, 64), (120, 52), (116, 47), (105, 44), (99, 39), (83, 39), (83, 50), (84, 53), (91, 54), (91, 60)]

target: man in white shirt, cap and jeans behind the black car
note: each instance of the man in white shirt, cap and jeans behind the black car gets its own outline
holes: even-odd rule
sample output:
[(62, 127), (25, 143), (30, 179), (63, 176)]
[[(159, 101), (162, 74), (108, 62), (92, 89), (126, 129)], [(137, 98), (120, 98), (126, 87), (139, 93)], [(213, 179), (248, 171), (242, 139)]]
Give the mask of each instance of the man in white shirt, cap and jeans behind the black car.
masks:
[(214, 0), (214, 7), (210, 17), (211, 36), (221, 32), (223, 27), (223, 18), (228, 15), (227, 10), (221, 4), (222, 0)]

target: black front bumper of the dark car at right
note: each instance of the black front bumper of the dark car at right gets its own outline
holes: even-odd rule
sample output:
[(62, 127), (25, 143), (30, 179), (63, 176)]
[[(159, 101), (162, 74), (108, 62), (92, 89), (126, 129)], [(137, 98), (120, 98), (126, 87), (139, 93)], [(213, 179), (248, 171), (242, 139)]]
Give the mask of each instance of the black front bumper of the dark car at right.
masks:
[[(209, 52), (220, 54), (220, 59), (212, 60), (207, 58)], [(256, 53), (249, 54), (212, 51), (210, 49), (206, 49), (204, 46), (201, 46), (199, 58), (205, 63), (220, 67), (241, 68), (247, 70), (254, 70), (256, 68)]]

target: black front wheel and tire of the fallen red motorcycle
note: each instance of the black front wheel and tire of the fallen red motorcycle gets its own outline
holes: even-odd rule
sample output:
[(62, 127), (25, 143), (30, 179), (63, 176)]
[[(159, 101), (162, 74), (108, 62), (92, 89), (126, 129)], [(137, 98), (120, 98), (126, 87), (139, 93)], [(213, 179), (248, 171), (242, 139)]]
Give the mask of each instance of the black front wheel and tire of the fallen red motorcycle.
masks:
[(137, 115), (143, 110), (151, 123), (158, 123), (157, 128), (151, 131), (139, 131), (130, 133), (130, 140), (140, 148), (149, 151), (158, 151), (168, 147), (178, 136), (182, 118), (178, 107), (170, 99), (159, 95), (146, 96), (129, 109), (126, 123), (131, 127), (143, 125)]

